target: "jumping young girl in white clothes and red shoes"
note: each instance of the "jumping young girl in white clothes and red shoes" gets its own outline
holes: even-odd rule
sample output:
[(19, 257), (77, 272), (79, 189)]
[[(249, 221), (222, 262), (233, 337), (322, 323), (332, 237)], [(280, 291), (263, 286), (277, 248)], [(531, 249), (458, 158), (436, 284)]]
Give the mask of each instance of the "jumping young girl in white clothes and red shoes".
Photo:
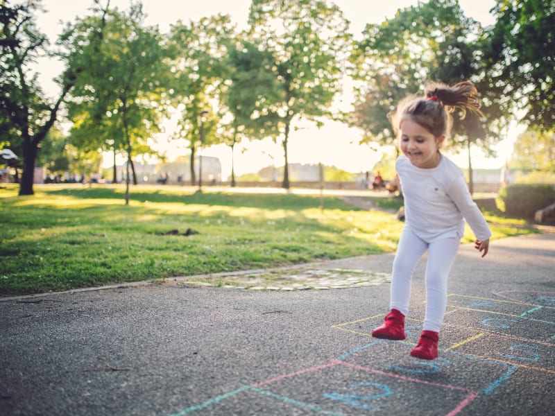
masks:
[(405, 225), (393, 261), (391, 311), (372, 335), (404, 340), (404, 317), (409, 312), (411, 275), (428, 250), (426, 312), (423, 331), (411, 356), (433, 360), (447, 307), (447, 276), (459, 249), (465, 219), (476, 236), (481, 257), (488, 254), (490, 229), (472, 201), (463, 172), (441, 152), (450, 132), (451, 113), (458, 107), (481, 114), (477, 90), (470, 82), (452, 87), (430, 83), (424, 98), (402, 101), (391, 121), (402, 151), (395, 164), (404, 194)]

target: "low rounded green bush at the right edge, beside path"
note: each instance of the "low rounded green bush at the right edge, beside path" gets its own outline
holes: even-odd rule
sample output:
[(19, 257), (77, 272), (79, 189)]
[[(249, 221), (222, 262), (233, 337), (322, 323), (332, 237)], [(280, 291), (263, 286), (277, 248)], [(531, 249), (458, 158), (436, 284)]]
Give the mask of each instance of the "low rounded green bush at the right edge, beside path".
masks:
[(555, 187), (549, 184), (509, 184), (495, 199), (506, 216), (533, 219), (538, 209), (555, 202)]

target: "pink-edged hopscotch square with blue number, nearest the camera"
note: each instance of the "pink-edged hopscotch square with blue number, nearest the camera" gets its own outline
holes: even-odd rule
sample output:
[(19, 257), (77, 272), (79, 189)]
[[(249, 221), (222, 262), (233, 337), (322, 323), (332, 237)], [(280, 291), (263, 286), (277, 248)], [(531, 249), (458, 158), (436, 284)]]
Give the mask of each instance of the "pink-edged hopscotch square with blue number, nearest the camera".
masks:
[[(323, 378), (325, 383), (320, 383)], [(305, 409), (317, 408), (318, 413), (328, 415), (428, 415), (430, 409), (435, 415), (449, 415), (477, 397), (477, 392), (466, 388), (341, 361), (327, 368), (261, 384), (257, 388), (266, 394), (303, 404)]]

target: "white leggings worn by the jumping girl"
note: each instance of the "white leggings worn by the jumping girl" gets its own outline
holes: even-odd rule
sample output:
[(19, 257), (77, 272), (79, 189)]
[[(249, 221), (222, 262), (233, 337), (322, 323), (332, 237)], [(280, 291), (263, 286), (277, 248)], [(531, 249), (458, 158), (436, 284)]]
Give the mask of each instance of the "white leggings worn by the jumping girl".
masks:
[(428, 250), (426, 313), (422, 329), (439, 332), (447, 308), (447, 277), (460, 243), (459, 237), (446, 237), (427, 243), (405, 227), (393, 261), (391, 309), (397, 309), (405, 316), (409, 313), (412, 273), (422, 254)]

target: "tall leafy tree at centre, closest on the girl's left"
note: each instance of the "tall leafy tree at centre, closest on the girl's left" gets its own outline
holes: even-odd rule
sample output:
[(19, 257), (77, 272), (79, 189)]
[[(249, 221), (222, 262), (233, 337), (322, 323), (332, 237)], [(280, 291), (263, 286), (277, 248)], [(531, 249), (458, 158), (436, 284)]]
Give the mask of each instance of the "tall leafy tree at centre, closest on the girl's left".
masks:
[[(268, 137), (282, 137), (282, 187), (288, 189), (291, 123), (307, 119), (321, 125), (321, 117), (331, 115), (342, 87), (348, 21), (325, 0), (253, 0), (249, 24), (250, 42), (273, 55), (267, 71), (276, 81), (259, 92), (262, 98), (254, 119), (267, 126)], [(276, 86), (278, 98), (274, 98)]]

